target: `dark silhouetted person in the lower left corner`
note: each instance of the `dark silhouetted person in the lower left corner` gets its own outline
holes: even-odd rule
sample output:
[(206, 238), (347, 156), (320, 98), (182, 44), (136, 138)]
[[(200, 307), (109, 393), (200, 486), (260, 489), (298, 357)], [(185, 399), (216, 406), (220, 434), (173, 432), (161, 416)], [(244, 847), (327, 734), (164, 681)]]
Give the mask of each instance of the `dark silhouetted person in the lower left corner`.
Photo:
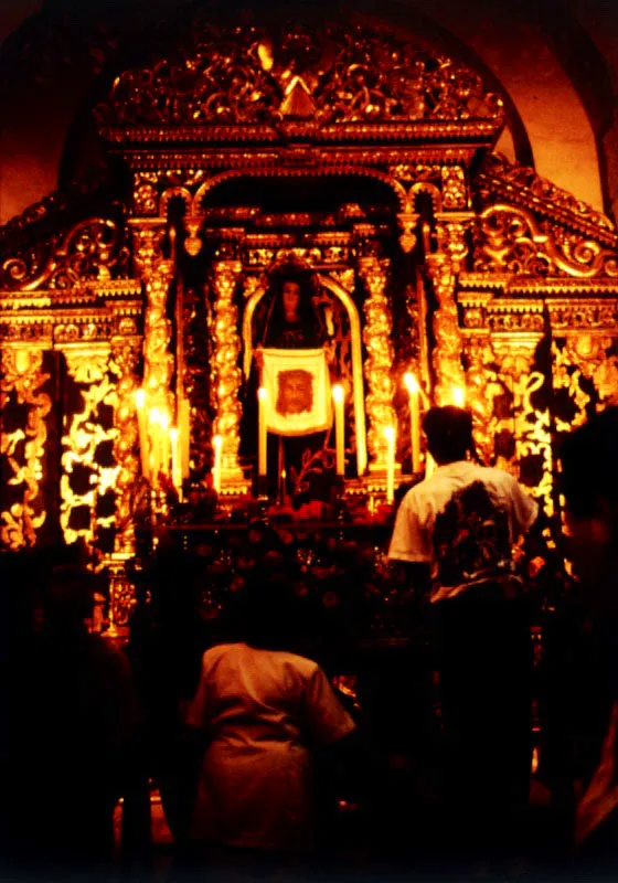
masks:
[(124, 655), (90, 635), (92, 574), (53, 568), (39, 634), (14, 672), (3, 799), (18, 863), (95, 871), (114, 854), (113, 813), (136, 716)]

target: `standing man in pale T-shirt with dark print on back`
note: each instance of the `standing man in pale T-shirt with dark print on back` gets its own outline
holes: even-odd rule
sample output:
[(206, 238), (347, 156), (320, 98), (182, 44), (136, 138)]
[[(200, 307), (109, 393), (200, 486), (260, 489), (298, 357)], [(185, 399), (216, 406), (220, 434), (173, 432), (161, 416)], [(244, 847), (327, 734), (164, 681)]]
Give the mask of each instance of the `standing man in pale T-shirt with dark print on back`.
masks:
[(501, 469), (472, 462), (472, 421), (458, 407), (425, 416), (437, 464), (408, 491), (388, 550), (409, 565), (440, 636), (446, 809), (454, 844), (498, 847), (528, 797), (530, 629), (513, 545), (536, 503)]

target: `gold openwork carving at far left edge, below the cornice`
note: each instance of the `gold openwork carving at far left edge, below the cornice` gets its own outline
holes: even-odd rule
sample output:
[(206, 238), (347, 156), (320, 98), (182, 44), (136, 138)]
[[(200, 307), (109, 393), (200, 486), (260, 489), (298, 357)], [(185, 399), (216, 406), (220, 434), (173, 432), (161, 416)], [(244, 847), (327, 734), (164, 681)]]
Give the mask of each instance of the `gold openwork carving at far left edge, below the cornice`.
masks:
[[(40, 482), (43, 478), (43, 457), (47, 428), (45, 417), (52, 408), (52, 400), (41, 387), (50, 380), (43, 371), (43, 350), (32, 347), (7, 347), (2, 350), (2, 377), (0, 377), (0, 411), (15, 393), (17, 402), (28, 406), (25, 426), (12, 433), (2, 432), (0, 450), (7, 457), (12, 472), (8, 485), (23, 485), (21, 502), (13, 503), (2, 512), (0, 536), (11, 550), (34, 545), (36, 531), (43, 525), (46, 512), (36, 507)], [(23, 458), (18, 459), (18, 445), (23, 445)]]

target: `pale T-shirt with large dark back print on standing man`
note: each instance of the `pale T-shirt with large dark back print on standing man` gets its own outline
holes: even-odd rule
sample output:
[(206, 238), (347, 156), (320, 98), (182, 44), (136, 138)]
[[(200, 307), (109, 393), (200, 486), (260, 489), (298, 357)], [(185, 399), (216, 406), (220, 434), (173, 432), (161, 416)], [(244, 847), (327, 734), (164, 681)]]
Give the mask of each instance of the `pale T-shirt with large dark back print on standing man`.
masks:
[(404, 497), (388, 557), (431, 566), (431, 600), (512, 572), (512, 545), (539, 507), (503, 469), (440, 466)]

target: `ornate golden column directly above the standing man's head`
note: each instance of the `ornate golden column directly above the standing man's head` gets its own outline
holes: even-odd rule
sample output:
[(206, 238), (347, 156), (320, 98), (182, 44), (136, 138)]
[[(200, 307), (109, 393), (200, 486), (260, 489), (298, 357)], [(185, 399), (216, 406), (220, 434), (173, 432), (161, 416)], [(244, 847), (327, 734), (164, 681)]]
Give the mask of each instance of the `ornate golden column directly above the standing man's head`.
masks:
[(466, 232), (472, 217), (470, 212), (436, 214), (438, 247), (436, 252), (425, 257), (427, 273), (438, 301), (438, 308), (433, 317), (436, 345), (431, 353), (438, 405), (451, 404), (454, 387), (465, 386), (456, 287), (457, 274), (468, 254)]

